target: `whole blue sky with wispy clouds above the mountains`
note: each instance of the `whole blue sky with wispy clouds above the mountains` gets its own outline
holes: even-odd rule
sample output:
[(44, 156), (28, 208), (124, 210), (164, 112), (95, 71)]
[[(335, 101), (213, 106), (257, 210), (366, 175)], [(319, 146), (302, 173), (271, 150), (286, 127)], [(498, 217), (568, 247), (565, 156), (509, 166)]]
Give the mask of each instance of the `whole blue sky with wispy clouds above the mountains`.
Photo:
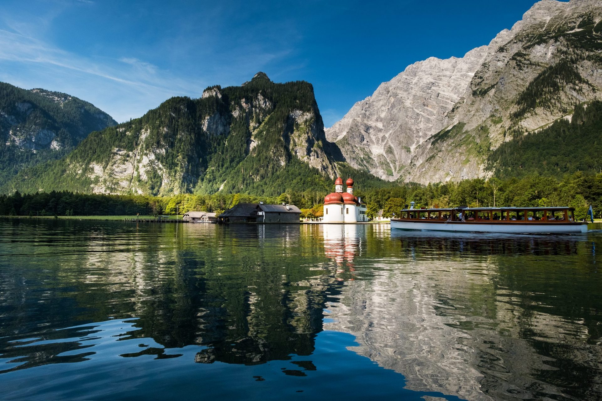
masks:
[(3, 0), (0, 81), (61, 91), (117, 121), (263, 71), (314, 85), (330, 126), (415, 61), (488, 44), (532, 0)]

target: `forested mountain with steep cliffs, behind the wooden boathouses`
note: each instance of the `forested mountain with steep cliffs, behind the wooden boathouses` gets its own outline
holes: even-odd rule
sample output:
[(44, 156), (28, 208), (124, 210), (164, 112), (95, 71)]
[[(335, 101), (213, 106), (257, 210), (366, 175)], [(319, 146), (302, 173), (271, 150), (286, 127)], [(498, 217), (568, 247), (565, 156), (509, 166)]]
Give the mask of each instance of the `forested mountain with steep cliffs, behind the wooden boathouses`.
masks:
[(93, 132), (64, 158), (22, 171), (5, 191), (167, 195), (323, 189), (344, 165), (326, 141), (311, 84), (257, 73), (240, 87), (173, 97)]

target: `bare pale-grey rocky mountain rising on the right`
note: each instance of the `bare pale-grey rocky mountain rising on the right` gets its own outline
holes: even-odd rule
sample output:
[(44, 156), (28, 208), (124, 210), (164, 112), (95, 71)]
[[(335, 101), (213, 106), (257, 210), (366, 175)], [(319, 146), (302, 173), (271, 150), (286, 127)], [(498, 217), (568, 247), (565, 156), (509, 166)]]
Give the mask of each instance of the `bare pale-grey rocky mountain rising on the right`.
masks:
[[(496, 174), (504, 168), (493, 156), (501, 145), (602, 99), (601, 21), (599, 0), (540, 1), (488, 46), (408, 66), (326, 129), (326, 138), (350, 165), (386, 180)], [(601, 141), (591, 145), (602, 151)]]

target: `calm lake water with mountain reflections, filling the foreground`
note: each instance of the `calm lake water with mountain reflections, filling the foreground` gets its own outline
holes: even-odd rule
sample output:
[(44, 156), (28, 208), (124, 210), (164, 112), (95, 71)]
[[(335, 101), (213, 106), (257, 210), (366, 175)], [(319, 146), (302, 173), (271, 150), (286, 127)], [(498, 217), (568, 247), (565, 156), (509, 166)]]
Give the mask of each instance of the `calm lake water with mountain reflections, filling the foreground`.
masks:
[(599, 400), (601, 264), (597, 231), (0, 220), (0, 399)]

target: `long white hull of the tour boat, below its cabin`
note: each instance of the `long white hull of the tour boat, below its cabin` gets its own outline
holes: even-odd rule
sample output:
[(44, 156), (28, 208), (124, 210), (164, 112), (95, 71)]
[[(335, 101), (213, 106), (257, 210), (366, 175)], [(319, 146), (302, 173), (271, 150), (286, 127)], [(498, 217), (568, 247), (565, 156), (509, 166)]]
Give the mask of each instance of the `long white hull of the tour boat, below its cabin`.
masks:
[(480, 233), (556, 234), (586, 233), (587, 223), (472, 223), (472, 222), (421, 222), (391, 219), (391, 228), (400, 230), (464, 231)]

